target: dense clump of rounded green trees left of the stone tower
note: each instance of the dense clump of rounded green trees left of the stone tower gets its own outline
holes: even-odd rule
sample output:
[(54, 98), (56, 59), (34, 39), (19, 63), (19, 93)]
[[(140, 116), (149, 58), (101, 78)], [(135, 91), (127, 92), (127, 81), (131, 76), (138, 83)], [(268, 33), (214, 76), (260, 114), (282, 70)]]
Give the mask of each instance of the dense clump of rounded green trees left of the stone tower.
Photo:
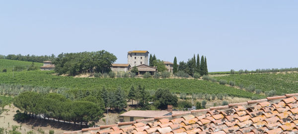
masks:
[(59, 74), (76, 75), (83, 72), (109, 72), (116, 56), (107, 51), (62, 53), (53, 64)]

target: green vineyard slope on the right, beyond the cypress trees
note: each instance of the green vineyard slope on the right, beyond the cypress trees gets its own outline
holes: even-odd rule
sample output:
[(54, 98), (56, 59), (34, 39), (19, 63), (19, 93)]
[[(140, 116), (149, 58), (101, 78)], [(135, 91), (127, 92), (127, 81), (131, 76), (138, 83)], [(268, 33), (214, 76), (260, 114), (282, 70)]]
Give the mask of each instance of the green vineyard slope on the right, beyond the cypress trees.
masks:
[(298, 92), (298, 73), (231, 74), (215, 78), (235, 81), (237, 86), (254, 85), (263, 92), (275, 90), (279, 95)]

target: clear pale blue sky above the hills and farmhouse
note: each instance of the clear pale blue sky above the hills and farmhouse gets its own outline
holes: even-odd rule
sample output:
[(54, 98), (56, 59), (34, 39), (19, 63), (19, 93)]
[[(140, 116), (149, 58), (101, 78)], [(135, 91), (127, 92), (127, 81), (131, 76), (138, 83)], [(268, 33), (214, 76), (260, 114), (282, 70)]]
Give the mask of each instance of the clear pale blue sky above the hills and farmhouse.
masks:
[(298, 67), (297, 0), (2, 0), (0, 55), (207, 57), (209, 71)]

